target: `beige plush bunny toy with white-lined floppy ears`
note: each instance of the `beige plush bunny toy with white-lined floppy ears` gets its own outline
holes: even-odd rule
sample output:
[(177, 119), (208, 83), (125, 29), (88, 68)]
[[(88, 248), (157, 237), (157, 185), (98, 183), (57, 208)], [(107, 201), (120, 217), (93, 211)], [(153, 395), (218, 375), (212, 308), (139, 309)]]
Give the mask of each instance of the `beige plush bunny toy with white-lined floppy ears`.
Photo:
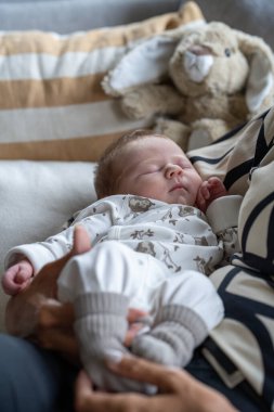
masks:
[(153, 118), (156, 131), (190, 150), (269, 108), (273, 80), (273, 53), (261, 38), (212, 22), (135, 44), (103, 87), (130, 118)]

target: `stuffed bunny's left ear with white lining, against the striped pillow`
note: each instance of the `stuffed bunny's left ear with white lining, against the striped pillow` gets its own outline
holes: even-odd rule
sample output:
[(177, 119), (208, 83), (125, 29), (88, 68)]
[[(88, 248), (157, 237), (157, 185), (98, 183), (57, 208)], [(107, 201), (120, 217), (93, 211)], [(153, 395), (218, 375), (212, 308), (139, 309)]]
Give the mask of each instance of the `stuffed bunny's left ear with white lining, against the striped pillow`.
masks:
[(178, 42), (177, 37), (162, 35), (138, 43), (104, 77), (103, 89), (107, 94), (123, 95), (136, 86), (159, 81), (168, 73)]

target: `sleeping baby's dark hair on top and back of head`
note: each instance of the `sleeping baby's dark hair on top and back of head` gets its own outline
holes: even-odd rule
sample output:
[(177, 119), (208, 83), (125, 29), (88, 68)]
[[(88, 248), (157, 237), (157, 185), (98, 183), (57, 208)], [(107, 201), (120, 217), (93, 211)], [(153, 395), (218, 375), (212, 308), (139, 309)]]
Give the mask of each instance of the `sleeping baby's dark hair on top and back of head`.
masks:
[(94, 178), (94, 188), (97, 198), (106, 197), (115, 193), (117, 170), (115, 160), (122, 152), (122, 149), (130, 142), (149, 137), (166, 138), (165, 134), (155, 133), (148, 129), (138, 129), (129, 134), (121, 136), (118, 140), (110, 143), (97, 163)]

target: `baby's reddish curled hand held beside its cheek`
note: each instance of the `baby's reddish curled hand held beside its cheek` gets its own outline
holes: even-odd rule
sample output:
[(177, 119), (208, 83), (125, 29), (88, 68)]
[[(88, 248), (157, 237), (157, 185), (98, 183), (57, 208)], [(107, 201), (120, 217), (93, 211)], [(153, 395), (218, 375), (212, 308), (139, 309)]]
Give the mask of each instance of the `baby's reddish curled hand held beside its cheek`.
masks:
[(219, 178), (209, 178), (203, 182), (199, 188), (196, 205), (201, 211), (205, 213), (212, 201), (218, 197), (225, 196), (226, 194), (227, 191)]

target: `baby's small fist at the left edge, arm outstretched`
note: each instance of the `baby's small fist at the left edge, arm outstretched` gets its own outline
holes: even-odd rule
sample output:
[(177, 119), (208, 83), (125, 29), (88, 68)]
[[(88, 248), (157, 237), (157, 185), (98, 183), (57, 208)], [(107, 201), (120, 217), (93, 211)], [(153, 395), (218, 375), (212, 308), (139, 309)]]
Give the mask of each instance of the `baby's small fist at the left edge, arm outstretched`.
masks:
[(2, 287), (8, 295), (16, 295), (29, 283), (34, 268), (29, 260), (24, 259), (11, 266), (3, 274)]

